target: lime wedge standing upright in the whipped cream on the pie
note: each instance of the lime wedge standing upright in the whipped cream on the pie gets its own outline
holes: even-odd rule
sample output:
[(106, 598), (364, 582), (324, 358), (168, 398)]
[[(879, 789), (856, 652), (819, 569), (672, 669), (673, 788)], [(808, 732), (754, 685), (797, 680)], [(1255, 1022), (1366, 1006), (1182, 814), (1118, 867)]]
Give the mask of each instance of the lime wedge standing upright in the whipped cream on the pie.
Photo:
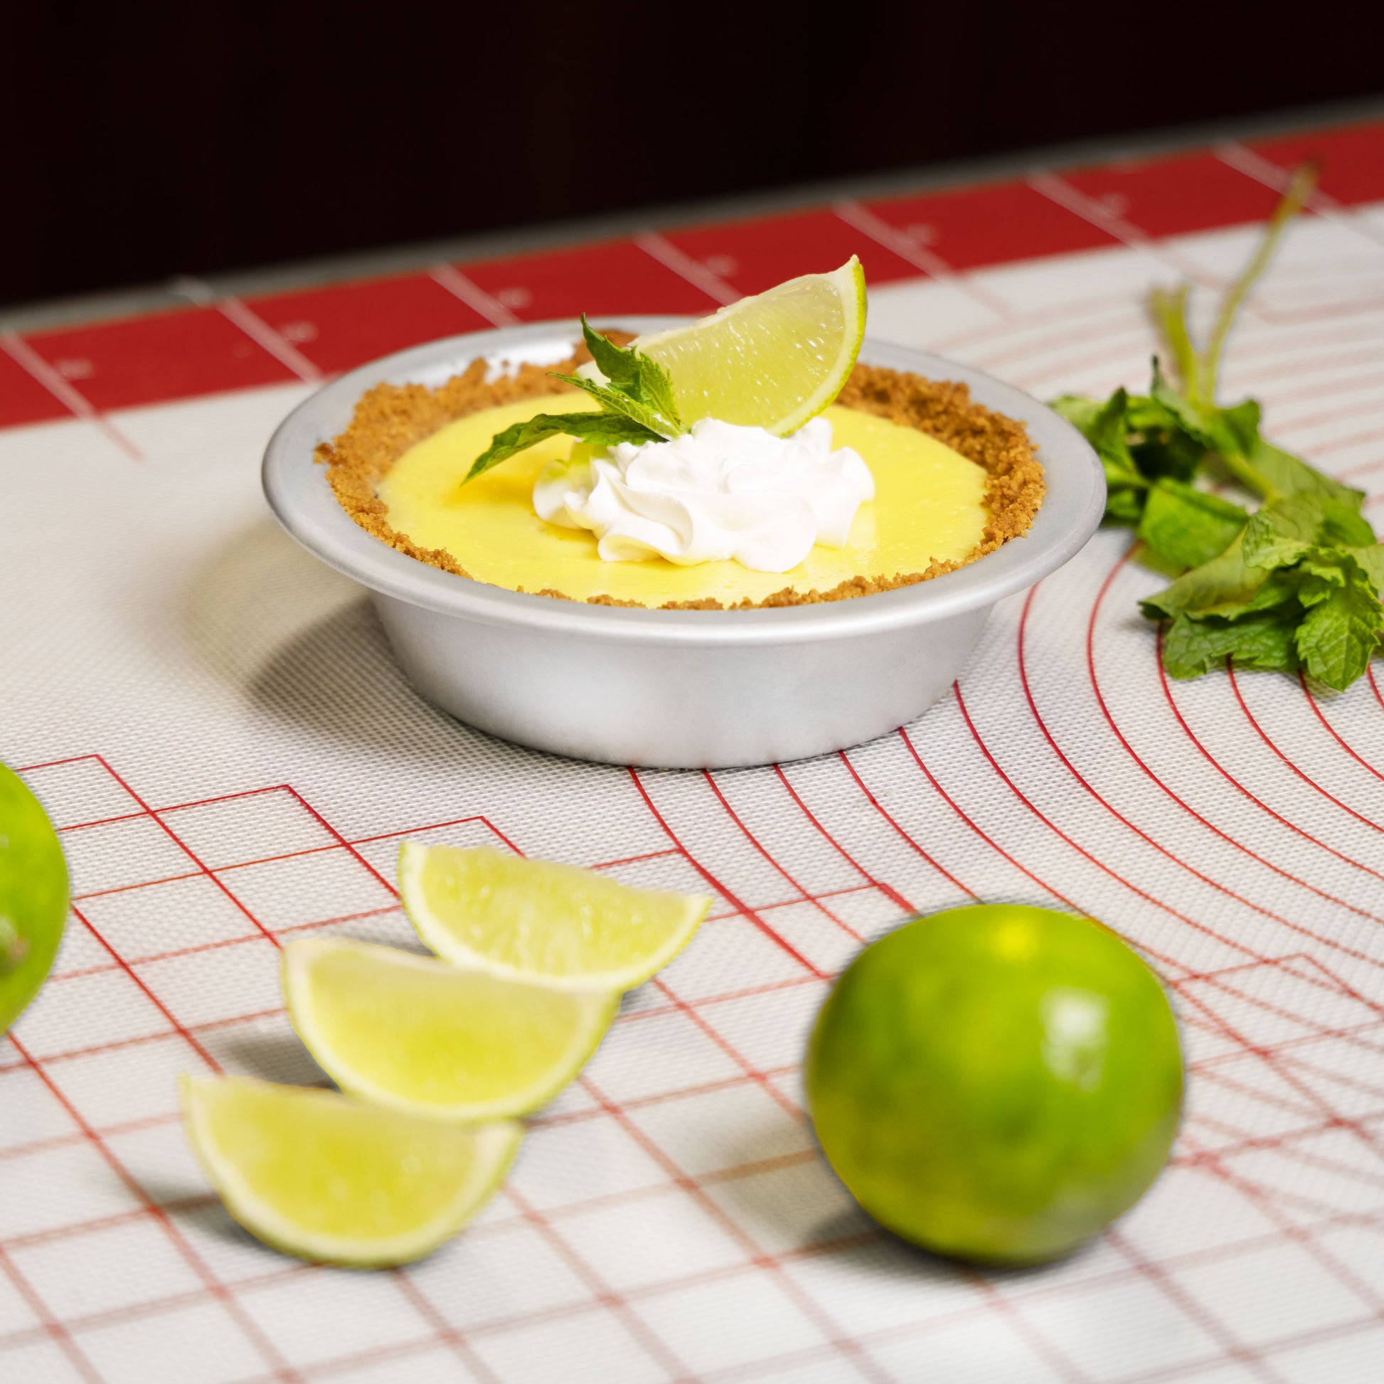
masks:
[(668, 372), (682, 422), (785, 437), (841, 392), (864, 335), (865, 273), (853, 255), (833, 274), (790, 278), (634, 345)]

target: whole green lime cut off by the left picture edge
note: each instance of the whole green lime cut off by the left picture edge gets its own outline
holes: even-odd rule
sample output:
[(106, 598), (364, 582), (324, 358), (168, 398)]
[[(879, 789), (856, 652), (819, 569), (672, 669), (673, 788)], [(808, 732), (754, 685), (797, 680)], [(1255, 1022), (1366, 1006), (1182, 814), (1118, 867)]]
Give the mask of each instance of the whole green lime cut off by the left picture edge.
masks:
[(58, 835), (24, 781), (0, 764), (0, 1032), (37, 994), (66, 918)]

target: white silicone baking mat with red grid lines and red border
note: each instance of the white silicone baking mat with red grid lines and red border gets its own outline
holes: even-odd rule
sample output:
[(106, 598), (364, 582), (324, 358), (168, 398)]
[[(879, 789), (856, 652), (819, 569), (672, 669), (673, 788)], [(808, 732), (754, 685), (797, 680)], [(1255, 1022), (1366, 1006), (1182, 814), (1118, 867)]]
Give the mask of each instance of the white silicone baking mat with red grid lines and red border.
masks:
[[(1330, 699), (1277, 675), (1167, 682), (1135, 608), (1157, 579), (1106, 530), (999, 608), (954, 695), (897, 734), (738, 772), (572, 763), (421, 702), (257, 479), (286, 410), (372, 356), (581, 309), (703, 311), (851, 252), (880, 338), (1039, 396), (1142, 386), (1147, 288), (1223, 282), (1305, 154), (1322, 192), (1226, 396), (1373, 489), (1384, 125), (6, 338), (0, 757), (62, 826), (75, 904), (0, 1041), (0, 1378), (1384, 1377), (1376, 677)], [(461, 1239), (401, 1272), (298, 1264), (209, 1196), (176, 1075), (321, 1080), (278, 948), (408, 945), (408, 836), (717, 904)], [(832, 974), (972, 898), (1110, 922), (1175, 988), (1190, 1049), (1163, 1179), (1041, 1272), (884, 1236), (801, 1110)]]

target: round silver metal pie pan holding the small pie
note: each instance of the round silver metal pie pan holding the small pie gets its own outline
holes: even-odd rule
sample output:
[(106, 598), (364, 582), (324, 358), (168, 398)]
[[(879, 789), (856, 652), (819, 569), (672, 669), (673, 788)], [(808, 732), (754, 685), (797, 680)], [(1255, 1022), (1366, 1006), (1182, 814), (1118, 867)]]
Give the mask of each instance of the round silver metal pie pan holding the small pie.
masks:
[[(686, 318), (602, 318), (660, 331)], [(548, 364), (572, 322), (453, 336), (363, 365), (284, 421), (264, 493), (284, 527), (368, 587), (394, 656), (430, 702), (508, 740), (585, 760), (721, 768), (804, 758), (911, 721), (945, 693), (1003, 597), (1071, 558), (1100, 523), (1104, 479), (1052, 410), (978, 371), (866, 338), (861, 361), (959, 381), (1024, 424), (1046, 497), (1026, 534), (915, 585), (812, 605), (652, 610), (555, 601), (439, 570), (381, 543), (339, 505), (318, 443), (346, 429), (365, 390), (436, 388), (476, 358)]]

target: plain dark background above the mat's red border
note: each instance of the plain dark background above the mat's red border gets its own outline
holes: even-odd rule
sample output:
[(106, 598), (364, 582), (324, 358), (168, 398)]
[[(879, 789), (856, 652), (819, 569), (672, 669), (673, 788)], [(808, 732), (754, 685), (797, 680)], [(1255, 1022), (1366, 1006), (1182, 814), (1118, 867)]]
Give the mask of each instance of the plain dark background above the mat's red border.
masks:
[(1377, 3), (7, 10), (0, 303), (1384, 90)]

